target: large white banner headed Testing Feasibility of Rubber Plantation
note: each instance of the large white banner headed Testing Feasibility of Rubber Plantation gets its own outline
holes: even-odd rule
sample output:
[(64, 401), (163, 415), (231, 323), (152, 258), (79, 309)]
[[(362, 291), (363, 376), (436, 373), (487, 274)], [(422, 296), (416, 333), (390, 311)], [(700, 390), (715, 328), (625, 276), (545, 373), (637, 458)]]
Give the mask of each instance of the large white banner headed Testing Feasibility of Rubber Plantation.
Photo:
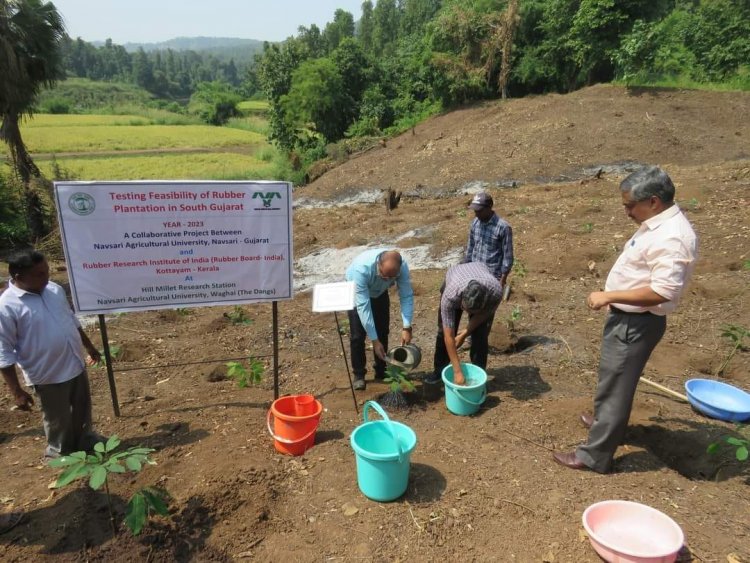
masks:
[(286, 182), (55, 182), (75, 309), (293, 297)]

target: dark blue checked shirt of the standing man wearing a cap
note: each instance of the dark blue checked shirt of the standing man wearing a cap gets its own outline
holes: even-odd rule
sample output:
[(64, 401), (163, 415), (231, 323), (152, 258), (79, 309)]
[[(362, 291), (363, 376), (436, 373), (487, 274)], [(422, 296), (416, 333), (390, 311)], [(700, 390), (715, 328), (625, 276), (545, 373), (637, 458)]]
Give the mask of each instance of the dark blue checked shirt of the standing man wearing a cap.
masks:
[(513, 267), (513, 229), (497, 213), (486, 222), (478, 218), (471, 223), (466, 262), (483, 262), (496, 278)]

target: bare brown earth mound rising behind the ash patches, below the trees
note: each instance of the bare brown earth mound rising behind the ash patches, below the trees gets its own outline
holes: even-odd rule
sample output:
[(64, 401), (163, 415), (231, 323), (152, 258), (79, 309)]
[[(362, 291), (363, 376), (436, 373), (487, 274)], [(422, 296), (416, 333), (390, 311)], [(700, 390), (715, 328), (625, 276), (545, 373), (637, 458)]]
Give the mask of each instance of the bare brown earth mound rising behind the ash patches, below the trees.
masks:
[(750, 93), (598, 85), (488, 102), (420, 123), (303, 188), (332, 197), (575, 179), (627, 163), (700, 165), (750, 158)]

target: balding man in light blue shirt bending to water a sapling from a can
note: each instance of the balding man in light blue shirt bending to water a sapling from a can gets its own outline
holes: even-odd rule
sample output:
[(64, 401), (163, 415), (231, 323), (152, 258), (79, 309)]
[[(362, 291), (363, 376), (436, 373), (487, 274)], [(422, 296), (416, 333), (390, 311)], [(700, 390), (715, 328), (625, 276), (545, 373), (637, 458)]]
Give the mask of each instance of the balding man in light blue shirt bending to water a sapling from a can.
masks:
[(366, 388), (367, 359), (365, 339), (372, 340), (375, 356), (375, 378), (385, 377), (385, 355), (388, 350), (391, 303), (388, 289), (396, 285), (401, 303), (401, 344), (411, 342), (411, 320), (414, 313), (414, 291), (409, 267), (396, 250), (377, 248), (357, 256), (346, 270), (347, 281), (355, 284), (356, 308), (349, 311), (354, 389)]

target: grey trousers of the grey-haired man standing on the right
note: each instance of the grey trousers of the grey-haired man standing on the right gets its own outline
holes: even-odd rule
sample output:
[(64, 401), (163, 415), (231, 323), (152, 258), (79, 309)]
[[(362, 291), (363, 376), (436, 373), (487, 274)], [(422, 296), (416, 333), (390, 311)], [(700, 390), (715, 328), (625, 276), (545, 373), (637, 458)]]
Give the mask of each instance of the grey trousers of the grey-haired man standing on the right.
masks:
[(652, 314), (611, 312), (604, 324), (594, 424), (576, 457), (594, 471), (607, 473), (633, 407), (638, 379), (651, 352), (664, 336), (667, 319)]

